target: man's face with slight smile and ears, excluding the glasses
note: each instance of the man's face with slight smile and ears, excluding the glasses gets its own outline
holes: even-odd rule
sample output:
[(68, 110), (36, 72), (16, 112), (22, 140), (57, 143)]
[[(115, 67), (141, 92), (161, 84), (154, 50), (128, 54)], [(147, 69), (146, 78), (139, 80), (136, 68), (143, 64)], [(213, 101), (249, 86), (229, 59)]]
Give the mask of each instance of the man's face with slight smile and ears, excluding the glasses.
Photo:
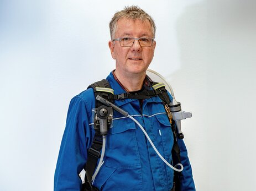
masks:
[[(149, 21), (127, 20), (117, 21), (114, 39), (119, 37), (153, 37)], [(155, 41), (150, 47), (141, 47), (135, 40), (131, 47), (120, 46), (119, 41), (109, 41), (109, 48), (113, 59), (116, 59), (116, 70), (122, 75), (144, 74), (154, 56)]]

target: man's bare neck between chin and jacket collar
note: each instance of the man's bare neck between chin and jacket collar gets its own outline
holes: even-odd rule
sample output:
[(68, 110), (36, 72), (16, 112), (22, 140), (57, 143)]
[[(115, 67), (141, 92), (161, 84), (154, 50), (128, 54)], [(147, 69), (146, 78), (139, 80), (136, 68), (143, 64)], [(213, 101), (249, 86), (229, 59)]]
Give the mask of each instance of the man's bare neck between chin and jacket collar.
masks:
[(117, 70), (114, 71), (114, 75), (119, 82), (124, 86), (126, 91), (138, 91), (142, 89), (146, 74), (119, 74)]

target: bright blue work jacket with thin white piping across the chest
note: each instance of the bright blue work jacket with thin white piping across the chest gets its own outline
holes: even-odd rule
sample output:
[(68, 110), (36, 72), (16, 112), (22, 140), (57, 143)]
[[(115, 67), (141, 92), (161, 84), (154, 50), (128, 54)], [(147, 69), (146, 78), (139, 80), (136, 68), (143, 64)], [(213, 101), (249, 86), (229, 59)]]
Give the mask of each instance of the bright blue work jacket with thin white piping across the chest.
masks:
[[(114, 94), (126, 92), (114, 79), (107, 77)], [(171, 98), (172, 99), (172, 98)], [(143, 100), (116, 100), (115, 105), (138, 120), (153, 141), (156, 149), (172, 163), (173, 132), (159, 97)], [(95, 131), (92, 110), (95, 107), (93, 89), (75, 96), (69, 106), (65, 132), (54, 177), (54, 190), (80, 190), (79, 173), (85, 167), (87, 150)], [(192, 170), (183, 140), (178, 140), (181, 163), (184, 166), (181, 190), (195, 190)], [(93, 185), (100, 190), (169, 191), (173, 188), (174, 171), (156, 154), (142, 130), (132, 119), (113, 111), (113, 127), (106, 136), (104, 163)], [(176, 165), (176, 164), (173, 164)]]

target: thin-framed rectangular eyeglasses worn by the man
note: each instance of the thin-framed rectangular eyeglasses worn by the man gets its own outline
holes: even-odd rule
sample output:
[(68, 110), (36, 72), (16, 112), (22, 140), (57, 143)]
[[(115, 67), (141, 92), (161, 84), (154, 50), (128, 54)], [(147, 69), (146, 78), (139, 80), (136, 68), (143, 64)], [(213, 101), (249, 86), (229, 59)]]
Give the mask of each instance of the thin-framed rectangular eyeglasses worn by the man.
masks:
[(119, 41), (120, 46), (130, 47), (130, 46), (133, 46), (133, 43), (135, 40), (139, 41), (139, 45), (141, 47), (150, 47), (152, 46), (152, 42), (154, 39), (150, 37), (141, 37), (141, 38), (123, 37), (123, 38), (114, 39), (113, 42)]

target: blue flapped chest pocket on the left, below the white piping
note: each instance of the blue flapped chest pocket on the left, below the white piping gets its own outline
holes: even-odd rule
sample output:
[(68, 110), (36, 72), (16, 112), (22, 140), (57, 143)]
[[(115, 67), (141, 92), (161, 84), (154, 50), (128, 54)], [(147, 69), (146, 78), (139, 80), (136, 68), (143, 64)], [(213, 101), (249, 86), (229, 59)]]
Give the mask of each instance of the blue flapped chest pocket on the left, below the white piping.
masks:
[(113, 120), (106, 140), (106, 166), (119, 169), (141, 167), (135, 130), (135, 123), (129, 118)]

